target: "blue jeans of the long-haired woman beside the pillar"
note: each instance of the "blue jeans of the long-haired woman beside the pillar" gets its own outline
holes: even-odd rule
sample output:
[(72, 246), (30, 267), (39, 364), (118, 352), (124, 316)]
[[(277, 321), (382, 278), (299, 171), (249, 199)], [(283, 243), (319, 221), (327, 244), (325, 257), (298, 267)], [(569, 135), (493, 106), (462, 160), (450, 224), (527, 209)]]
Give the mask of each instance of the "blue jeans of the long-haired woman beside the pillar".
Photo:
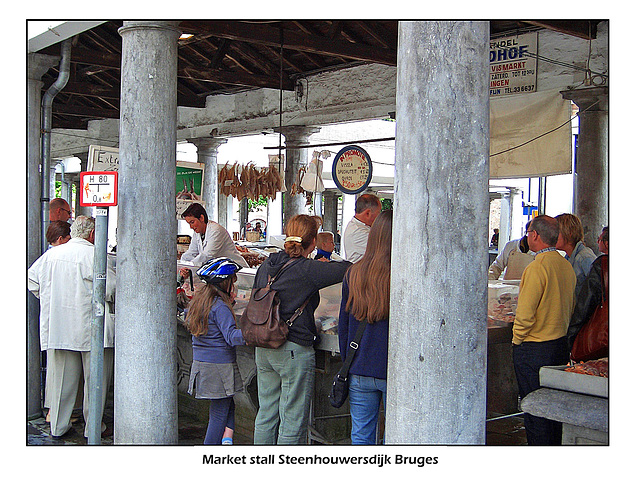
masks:
[(363, 375), (349, 375), (352, 445), (376, 444), (380, 401), (386, 409), (386, 380)]

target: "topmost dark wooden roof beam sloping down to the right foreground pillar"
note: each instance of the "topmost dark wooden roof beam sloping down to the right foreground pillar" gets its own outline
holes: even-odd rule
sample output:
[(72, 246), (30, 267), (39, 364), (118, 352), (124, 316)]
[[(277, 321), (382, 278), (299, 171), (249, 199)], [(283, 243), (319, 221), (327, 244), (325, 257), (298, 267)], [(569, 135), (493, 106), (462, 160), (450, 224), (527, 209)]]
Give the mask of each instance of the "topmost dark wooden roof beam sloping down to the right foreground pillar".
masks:
[[(188, 33), (206, 33), (220, 38), (280, 47), (280, 29), (265, 25), (245, 25), (237, 22), (197, 22), (185, 21), (180, 28)], [(342, 40), (305, 35), (290, 30), (282, 30), (283, 48), (302, 50), (327, 56), (344, 57), (364, 62), (396, 64), (396, 52), (385, 51), (366, 45), (358, 45)]]

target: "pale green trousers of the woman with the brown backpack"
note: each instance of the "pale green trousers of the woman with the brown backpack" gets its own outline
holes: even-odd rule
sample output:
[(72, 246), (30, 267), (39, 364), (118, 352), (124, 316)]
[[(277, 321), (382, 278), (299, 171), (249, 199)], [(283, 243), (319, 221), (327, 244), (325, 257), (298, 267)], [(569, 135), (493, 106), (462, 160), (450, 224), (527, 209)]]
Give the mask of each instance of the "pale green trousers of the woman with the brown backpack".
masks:
[(307, 441), (315, 350), (293, 342), (256, 348), (258, 402), (253, 443), (296, 445)]

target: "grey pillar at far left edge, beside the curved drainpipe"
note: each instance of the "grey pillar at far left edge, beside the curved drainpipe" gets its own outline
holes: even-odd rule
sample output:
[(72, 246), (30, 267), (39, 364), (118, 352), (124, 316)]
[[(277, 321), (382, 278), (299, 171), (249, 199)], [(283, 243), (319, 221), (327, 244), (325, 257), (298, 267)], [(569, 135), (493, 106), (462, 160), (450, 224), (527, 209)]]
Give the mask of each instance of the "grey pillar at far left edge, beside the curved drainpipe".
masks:
[[(27, 267), (42, 254), (40, 240), (40, 127), (41, 78), (60, 59), (31, 53), (27, 56)], [(40, 384), (40, 303), (27, 293), (27, 418), (42, 415)]]

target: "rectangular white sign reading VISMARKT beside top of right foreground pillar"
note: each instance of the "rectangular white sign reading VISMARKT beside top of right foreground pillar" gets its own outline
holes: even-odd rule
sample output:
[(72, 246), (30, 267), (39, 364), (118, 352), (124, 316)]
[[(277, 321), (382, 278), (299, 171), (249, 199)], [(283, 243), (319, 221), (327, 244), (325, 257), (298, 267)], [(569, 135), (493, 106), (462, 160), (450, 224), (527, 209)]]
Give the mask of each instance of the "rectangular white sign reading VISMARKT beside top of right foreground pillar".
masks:
[(489, 96), (537, 89), (538, 34), (525, 33), (489, 42)]

